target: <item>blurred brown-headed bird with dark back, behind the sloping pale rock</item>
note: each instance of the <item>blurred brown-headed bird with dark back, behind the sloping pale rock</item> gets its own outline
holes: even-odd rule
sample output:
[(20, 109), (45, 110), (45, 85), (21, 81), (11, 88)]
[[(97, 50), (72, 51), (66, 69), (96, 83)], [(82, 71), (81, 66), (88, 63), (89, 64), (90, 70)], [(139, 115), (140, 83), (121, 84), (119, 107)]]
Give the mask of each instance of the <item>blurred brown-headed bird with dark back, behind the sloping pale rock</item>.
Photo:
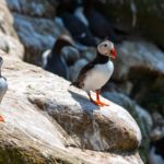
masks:
[(60, 35), (55, 42), (51, 50), (43, 54), (43, 68), (51, 73), (69, 79), (68, 66), (62, 57), (61, 50), (66, 46), (73, 46), (74, 43), (68, 35)]

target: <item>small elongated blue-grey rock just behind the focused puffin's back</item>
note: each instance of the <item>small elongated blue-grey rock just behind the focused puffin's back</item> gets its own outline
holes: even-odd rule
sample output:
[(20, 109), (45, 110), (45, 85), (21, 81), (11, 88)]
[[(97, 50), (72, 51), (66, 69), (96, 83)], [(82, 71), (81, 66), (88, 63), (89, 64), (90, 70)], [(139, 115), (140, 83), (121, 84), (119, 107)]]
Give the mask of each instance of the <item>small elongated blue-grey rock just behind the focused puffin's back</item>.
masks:
[(73, 66), (70, 67), (70, 81), (75, 81), (81, 69), (87, 63), (87, 60), (79, 59)]

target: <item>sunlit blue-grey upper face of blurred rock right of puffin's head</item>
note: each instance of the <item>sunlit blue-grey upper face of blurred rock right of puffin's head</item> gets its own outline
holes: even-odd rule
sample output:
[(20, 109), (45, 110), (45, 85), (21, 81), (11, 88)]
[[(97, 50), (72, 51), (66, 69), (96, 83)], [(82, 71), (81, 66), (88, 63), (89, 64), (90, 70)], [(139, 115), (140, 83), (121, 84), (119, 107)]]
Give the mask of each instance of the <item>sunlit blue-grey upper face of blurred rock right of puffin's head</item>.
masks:
[(164, 52), (153, 44), (145, 42), (124, 42), (116, 46), (118, 56), (115, 60), (114, 79), (128, 78), (130, 69), (143, 68), (164, 73)]

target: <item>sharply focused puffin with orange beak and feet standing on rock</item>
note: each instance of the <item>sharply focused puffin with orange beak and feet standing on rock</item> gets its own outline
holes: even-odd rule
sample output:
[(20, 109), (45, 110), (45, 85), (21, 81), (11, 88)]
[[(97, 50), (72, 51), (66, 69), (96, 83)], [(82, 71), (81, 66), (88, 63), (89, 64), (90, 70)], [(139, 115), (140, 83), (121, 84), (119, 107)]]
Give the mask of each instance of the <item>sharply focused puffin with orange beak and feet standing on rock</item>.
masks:
[[(114, 63), (110, 59), (116, 59), (116, 57), (114, 43), (105, 39), (97, 45), (95, 59), (82, 68), (77, 81), (72, 82), (71, 85), (84, 90), (93, 104), (108, 106), (99, 99), (99, 94), (101, 89), (108, 82), (114, 72)], [(96, 92), (95, 101), (92, 98), (90, 91)]]

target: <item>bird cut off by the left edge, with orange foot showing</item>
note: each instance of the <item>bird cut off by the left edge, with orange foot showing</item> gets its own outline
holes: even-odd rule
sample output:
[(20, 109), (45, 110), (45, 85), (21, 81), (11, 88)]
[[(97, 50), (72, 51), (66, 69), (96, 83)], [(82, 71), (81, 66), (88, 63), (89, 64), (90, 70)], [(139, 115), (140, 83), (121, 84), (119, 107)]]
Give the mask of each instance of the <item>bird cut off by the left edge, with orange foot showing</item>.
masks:
[[(0, 103), (2, 102), (2, 98), (8, 90), (8, 83), (7, 79), (1, 75), (1, 68), (2, 68), (3, 59), (0, 57)], [(4, 121), (4, 118), (0, 116), (0, 121)]]

